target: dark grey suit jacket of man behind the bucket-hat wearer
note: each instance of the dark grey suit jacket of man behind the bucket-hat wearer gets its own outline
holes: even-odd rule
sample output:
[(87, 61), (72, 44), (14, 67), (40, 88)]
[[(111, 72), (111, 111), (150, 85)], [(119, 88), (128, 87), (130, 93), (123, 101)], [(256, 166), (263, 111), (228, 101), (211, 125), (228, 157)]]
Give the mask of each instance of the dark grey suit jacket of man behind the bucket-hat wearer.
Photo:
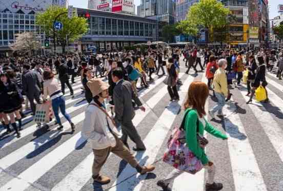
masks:
[(142, 105), (137, 95), (133, 92), (131, 82), (124, 79), (120, 80), (113, 90), (115, 118), (119, 122), (131, 121), (134, 118), (135, 112), (132, 99), (138, 106)]

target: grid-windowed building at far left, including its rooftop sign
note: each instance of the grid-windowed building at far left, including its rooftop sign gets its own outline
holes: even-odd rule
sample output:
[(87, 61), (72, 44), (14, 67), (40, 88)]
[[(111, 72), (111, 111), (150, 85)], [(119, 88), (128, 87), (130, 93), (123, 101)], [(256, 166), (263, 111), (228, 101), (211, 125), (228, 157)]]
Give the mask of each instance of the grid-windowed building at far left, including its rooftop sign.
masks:
[(44, 12), (49, 6), (68, 7), (64, 0), (5, 0), (0, 4), (0, 51), (8, 51), (18, 33), (37, 32), (44, 43), (44, 33), (35, 25), (36, 13)]

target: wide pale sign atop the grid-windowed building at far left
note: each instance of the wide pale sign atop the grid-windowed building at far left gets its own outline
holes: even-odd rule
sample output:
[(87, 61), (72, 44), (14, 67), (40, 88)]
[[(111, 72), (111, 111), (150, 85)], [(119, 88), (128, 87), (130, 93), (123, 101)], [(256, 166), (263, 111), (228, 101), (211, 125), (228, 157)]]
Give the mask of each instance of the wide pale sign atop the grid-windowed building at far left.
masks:
[(65, 6), (65, 0), (5, 0), (1, 1), (0, 11), (9, 9), (12, 13), (22, 10), (25, 14), (31, 11), (44, 12), (51, 5)]

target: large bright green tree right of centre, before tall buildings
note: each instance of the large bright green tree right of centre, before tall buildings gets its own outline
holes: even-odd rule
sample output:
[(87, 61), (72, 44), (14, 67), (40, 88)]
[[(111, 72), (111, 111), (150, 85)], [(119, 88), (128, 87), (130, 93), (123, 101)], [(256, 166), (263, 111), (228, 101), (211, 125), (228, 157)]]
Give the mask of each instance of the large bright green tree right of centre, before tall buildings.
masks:
[(181, 23), (181, 28), (195, 34), (196, 29), (205, 28), (213, 33), (214, 28), (227, 25), (229, 9), (217, 0), (200, 0), (190, 7), (186, 20)]

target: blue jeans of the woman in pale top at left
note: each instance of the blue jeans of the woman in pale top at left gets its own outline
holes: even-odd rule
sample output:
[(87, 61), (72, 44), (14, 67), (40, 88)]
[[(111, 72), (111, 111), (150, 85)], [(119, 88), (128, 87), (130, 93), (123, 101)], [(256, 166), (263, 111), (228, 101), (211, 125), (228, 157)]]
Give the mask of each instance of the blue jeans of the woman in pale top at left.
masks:
[(62, 125), (60, 117), (59, 117), (59, 108), (62, 115), (71, 123), (70, 115), (66, 113), (66, 105), (65, 105), (65, 97), (60, 96), (55, 99), (52, 99), (52, 109), (59, 125)]

